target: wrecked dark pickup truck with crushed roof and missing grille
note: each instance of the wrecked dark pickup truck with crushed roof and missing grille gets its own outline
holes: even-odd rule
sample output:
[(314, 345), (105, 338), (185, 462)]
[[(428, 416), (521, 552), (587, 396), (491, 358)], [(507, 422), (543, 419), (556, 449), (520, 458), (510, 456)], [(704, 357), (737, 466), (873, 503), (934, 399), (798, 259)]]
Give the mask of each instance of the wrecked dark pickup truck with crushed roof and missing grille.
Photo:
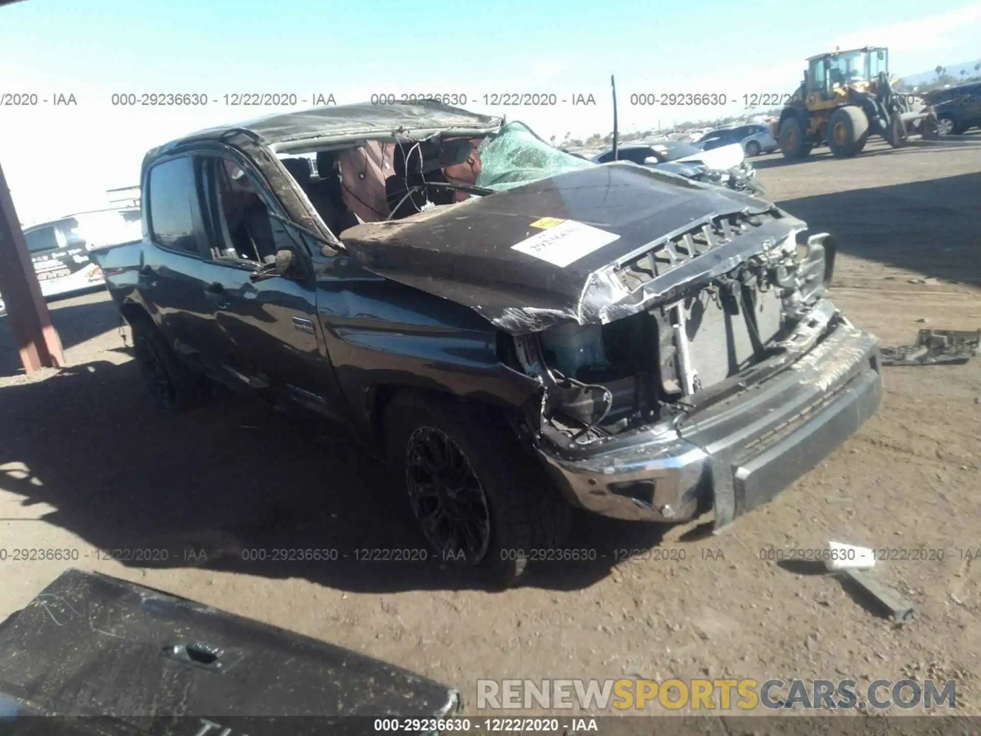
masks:
[(724, 527), (881, 398), (833, 237), (520, 123), (286, 113), (150, 151), (142, 191), (142, 242), (95, 257), (157, 401), (206, 377), (336, 420), (442, 558), (506, 580), (573, 506)]

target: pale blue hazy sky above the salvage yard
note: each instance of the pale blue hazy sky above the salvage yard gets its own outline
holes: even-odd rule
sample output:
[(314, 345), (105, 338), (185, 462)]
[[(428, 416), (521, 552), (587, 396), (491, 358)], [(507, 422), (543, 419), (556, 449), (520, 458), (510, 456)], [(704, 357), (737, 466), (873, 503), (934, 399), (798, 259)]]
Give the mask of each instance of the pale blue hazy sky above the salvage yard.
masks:
[[(809, 16), (809, 17), (808, 17)], [(842, 19), (848, 19), (843, 23)], [(885, 20), (884, 20), (885, 19)], [(845, 30), (843, 31), (843, 28)], [(683, 3), (26, 0), (0, 8), (0, 95), (73, 93), (77, 105), (0, 107), (0, 162), (25, 221), (100, 206), (135, 184), (143, 152), (184, 132), (272, 113), (235, 92), (593, 94), (595, 106), (497, 109), (544, 135), (622, 130), (739, 112), (743, 94), (789, 92), (803, 57), (836, 43), (891, 47), (899, 75), (981, 57), (981, 3), (692, 0)], [(114, 92), (198, 92), (203, 107), (124, 108)], [(708, 92), (726, 107), (631, 107), (632, 92)], [(303, 107), (303, 105), (299, 105)]]

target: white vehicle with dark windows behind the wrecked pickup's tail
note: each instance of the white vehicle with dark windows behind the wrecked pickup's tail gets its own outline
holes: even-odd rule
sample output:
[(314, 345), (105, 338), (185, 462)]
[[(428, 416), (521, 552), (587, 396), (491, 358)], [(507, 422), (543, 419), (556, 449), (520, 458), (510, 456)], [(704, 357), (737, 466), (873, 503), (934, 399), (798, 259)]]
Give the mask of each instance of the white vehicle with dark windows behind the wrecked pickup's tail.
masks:
[[(24, 230), (27, 251), (45, 297), (68, 296), (102, 286), (102, 271), (88, 253), (141, 237), (138, 207), (78, 212)], [(6, 311), (0, 294), (0, 315)]]

